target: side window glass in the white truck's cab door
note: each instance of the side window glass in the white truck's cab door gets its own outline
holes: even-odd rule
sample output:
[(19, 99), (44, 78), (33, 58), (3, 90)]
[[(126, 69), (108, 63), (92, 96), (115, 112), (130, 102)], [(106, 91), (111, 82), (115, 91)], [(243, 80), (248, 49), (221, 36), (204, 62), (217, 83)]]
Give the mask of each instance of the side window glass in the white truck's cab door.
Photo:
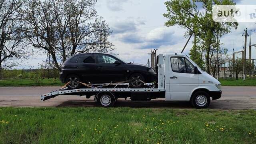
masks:
[(194, 74), (194, 66), (184, 57), (171, 57), (173, 72)]

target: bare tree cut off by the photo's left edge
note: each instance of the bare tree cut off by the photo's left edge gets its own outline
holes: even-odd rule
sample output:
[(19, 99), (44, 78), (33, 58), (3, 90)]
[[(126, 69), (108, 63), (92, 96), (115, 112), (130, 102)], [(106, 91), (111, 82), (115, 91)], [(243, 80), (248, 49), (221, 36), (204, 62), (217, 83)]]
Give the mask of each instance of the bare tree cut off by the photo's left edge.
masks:
[(16, 66), (12, 60), (26, 57), (24, 33), (18, 22), (21, 6), (20, 0), (0, 0), (0, 70)]

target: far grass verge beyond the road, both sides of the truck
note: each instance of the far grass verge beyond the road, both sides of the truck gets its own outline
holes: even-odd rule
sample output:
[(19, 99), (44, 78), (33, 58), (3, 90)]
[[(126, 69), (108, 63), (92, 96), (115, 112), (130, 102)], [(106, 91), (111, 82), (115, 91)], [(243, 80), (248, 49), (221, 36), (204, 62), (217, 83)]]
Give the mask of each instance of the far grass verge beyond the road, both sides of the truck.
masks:
[[(222, 86), (256, 86), (256, 79), (246, 80), (243, 82), (242, 79), (234, 80), (220, 79)], [(30, 80), (30, 79), (12, 79), (12, 80), (0, 80), (0, 86), (63, 86), (58, 78), (41, 79), (41, 80)]]

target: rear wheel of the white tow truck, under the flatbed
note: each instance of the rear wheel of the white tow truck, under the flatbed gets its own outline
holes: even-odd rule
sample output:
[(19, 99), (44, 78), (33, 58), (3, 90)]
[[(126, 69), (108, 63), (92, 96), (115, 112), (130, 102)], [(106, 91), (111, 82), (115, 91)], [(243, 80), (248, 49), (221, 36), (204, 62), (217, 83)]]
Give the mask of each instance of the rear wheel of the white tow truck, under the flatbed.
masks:
[(112, 93), (102, 92), (98, 94), (97, 103), (105, 108), (114, 106), (116, 100)]

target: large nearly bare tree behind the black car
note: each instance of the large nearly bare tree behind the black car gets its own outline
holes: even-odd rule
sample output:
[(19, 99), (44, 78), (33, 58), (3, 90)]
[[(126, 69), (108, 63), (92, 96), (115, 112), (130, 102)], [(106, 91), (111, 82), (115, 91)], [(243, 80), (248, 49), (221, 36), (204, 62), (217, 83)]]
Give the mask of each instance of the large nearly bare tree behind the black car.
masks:
[[(110, 28), (98, 18), (96, 0), (32, 0), (22, 11), (26, 38), (35, 48), (46, 50), (60, 70), (72, 54), (112, 50), (107, 41)], [(103, 32), (104, 31), (104, 32)], [(101, 47), (104, 34), (105, 47)]]

